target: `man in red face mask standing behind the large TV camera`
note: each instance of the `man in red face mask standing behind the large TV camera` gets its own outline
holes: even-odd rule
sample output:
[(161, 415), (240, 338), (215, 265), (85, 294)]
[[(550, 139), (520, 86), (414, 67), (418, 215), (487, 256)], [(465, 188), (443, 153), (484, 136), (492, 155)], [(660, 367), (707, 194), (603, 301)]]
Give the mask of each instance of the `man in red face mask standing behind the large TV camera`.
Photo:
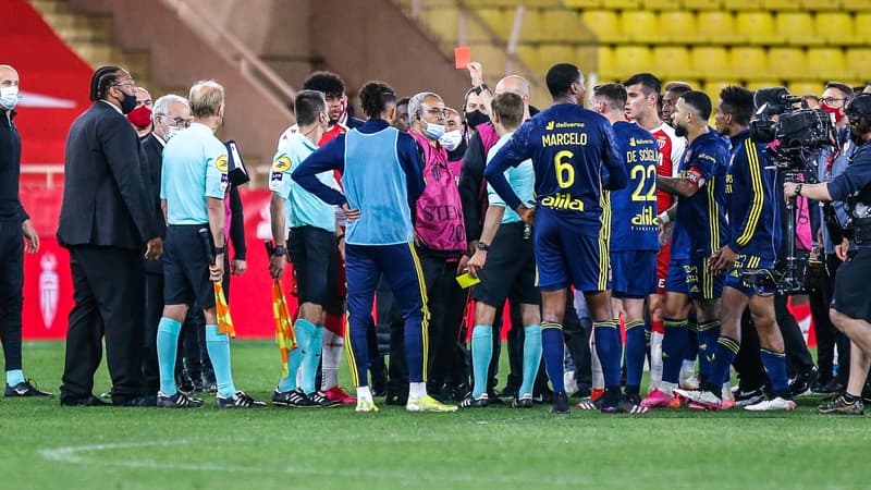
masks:
[[(819, 182), (831, 182), (832, 179), (844, 172), (847, 159), (852, 156), (856, 145), (850, 140), (849, 121), (844, 113), (844, 108), (852, 98), (852, 89), (838, 82), (825, 84), (825, 90), (820, 97), (820, 109), (833, 114), (837, 130), (837, 146), (827, 146), (820, 149), (817, 162), (817, 179)], [(814, 391), (818, 393), (839, 393), (844, 391), (849, 375), (850, 342), (846, 335), (839, 333), (829, 318), (829, 303), (832, 301), (835, 273), (841, 259), (835, 255), (835, 245), (841, 244), (841, 225), (846, 222), (846, 208), (844, 203), (820, 203), (811, 206), (817, 215), (815, 219), (819, 247), (821, 256), (811, 254), (811, 260), (818, 259), (824, 264), (821, 273), (812, 281), (808, 291), (813, 326), (817, 331), (818, 363), (820, 378)], [(814, 248), (818, 249), (818, 248)], [(837, 345), (837, 377), (833, 376), (835, 360), (835, 345)]]

